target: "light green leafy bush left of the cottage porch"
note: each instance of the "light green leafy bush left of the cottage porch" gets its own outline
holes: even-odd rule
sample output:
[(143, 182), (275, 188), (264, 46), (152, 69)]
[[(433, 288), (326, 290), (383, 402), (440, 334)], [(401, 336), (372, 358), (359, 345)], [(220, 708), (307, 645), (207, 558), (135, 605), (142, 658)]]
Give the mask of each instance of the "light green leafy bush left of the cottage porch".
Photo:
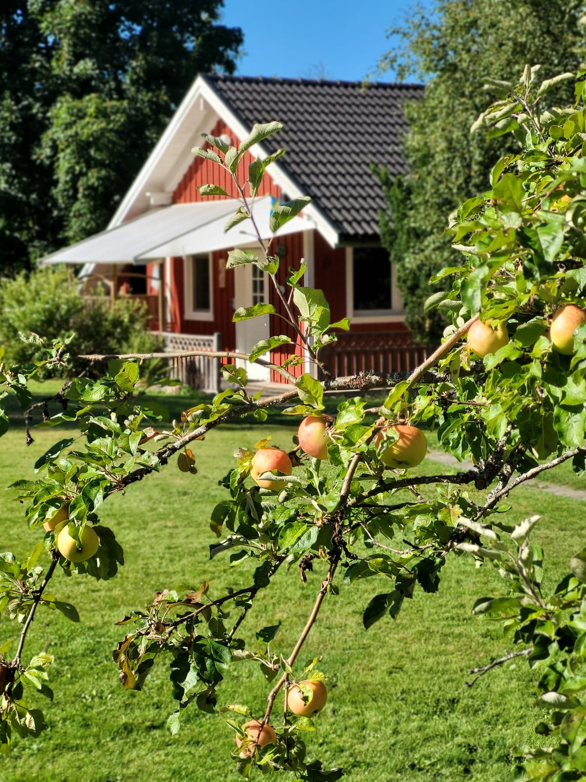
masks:
[[(148, 314), (143, 302), (123, 296), (112, 306), (105, 296), (84, 298), (77, 285), (70, 284), (63, 267), (2, 280), (0, 313), (0, 344), (9, 365), (45, 358), (42, 346), (25, 341), (21, 333), (63, 340), (74, 332), (64, 377), (83, 371), (96, 377), (103, 374), (105, 365), (78, 357), (84, 353), (151, 353), (160, 346), (159, 339), (147, 331)], [(44, 376), (49, 374), (45, 370)]]

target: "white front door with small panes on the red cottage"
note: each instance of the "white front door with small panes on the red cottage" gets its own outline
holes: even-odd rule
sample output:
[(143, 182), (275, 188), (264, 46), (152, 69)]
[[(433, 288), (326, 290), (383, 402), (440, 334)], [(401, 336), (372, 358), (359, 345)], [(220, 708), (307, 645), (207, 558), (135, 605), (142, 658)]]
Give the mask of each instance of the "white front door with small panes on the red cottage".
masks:
[[(246, 248), (256, 251), (255, 247)], [(260, 248), (258, 249), (260, 252)], [(234, 309), (252, 307), (269, 300), (269, 278), (256, 264), (237, 266), (234, 269)], [(261, 339), (270, 337), (269, 315), (252, 317), (249, 321), (237, 321), (236, 350), (238, 353), (250, 353), (252, 347)], [(263, 358), (270, 359), (269, 353)], [(270, 369), (248, 361), (236, 361), (237, 366), (245, 368), (250, 380), (270, 380)]]

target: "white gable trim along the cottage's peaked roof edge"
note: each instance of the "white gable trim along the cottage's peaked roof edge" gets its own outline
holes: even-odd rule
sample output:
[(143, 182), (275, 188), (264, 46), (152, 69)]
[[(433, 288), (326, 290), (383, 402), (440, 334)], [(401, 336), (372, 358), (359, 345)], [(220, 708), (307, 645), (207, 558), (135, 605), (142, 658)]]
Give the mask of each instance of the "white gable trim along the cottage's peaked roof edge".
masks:
[[(153, 149), (145, 165), (141, 168), (137, 178), (130, 185), (108, 228), (115, 228), (126, 221), (128, 217), (134, 216), (133, 211), (136, 210), (139, 201), (144, 201), (146, 193), (156, 191), (159, 188), (158, 182), (153, 181), (155, 170), (162, 163), (163, 156), (168, 152), (173, 139), (180, 134), (180, 131), (185, 131), (187, 128), (193, 130), (194, 117), (198, 118), (197, 127), (204, 132), (211, 130), (217, 118), (222, 119), (238, 138), (245, 138), (252, 130), (252, 128), (247, 128), (241, 124), (241, 121), (238, 120), (238, 117), (230, 109), (229, 104), (217, 94), (213, 86), (205, 80), (205, 77), (198, 76), (167, 125), (163, 135), (159, 138), (155, 149)], [(262, 144), (256, 144), (250, 149), (250, 152), (255, 157), (268, 154), (263, 149)], [(273, 181), (287, 193), (289, 198), (294, 199), (306, 195), (291, 180), (278, 161), (271, 163), (269, 171)], [(328, 244), (332, 247), (337, 246), (339, 242), (338, 231), (336, 231), (331, 221), (325, 217), (319, 207), (310, 203), (306, 206), (304, 212), (313, 219), (317, 230), (320, 231), (320, 234), (323, 235)]]

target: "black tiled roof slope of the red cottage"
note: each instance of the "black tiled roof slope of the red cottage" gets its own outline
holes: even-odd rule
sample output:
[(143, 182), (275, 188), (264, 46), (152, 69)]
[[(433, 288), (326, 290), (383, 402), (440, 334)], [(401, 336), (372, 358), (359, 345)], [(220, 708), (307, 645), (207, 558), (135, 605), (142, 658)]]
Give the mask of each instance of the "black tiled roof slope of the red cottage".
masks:
[(370, 163), (381, 163), (395, 176), (406, 173), (402, 103), (421, 95), (421, 85), (373, 82), (363, 88), (360, 81), (205, 79), (246, 127), (272, 120), (284, 124), (263, 146), (269, 152), (287, 149), (280, 166), (312, 196), (341, 241), (378, 236), (384, 199)]

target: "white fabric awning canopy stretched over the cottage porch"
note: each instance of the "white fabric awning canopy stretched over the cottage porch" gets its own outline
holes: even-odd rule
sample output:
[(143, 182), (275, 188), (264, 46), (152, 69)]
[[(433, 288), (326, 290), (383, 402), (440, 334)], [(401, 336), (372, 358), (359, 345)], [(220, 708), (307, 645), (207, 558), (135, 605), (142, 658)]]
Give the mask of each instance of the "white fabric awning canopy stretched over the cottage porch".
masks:
[[(273, 234), (269, 229), (271, 197), (255, 200), (253, 216), (261, 239)], [(47, 264), (145, 264), (169, 256), (210, 253), (255, 242), (252, 222), (243, 221), (224, 233), (230, 214), (238, 210), (236, 199), (181, 203), (151, 210), (109, 231), (84, 239), (66, 249), (45, 256)], [(313, 221), (298, 215), (277, 231), (277, 236), (307, 231)]]

